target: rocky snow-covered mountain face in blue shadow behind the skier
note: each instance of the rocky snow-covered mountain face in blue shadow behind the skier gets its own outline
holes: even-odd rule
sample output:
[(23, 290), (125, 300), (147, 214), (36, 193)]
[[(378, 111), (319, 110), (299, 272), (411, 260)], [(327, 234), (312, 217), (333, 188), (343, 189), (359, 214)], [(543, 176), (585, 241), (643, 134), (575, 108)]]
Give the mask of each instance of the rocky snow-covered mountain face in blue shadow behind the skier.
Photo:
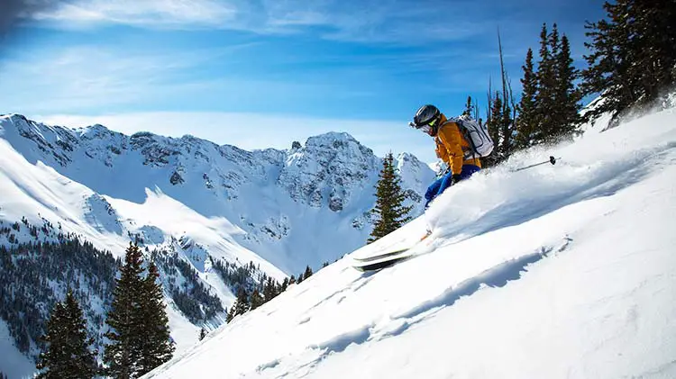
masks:
[[(139, 208), (155, 195), (172, 199), (207, 219), (229, 222), (233, 243), (255, 251), (287, 275), (341, 257), (370, 233), (364, 212), (375, 201), (381, 160), (346, 133), (311, 137), (305, 146), (298, 143), (284, 151), (245, 151), (192, 136), (125, 136), (101, 125), (69, 130), (21, 115), (3, 116), (0, 122), (3, 139), (28, 162), (41, 162), (103, 196), (116, 212), (108, 215), (114, 224), (121, 219), (138, 223), (140, 211), (145, 224), (172, 235), (183, 233), (186, 227), (167, 222), (167, 214)], [(398, 160), (419, 214), (420, 194), (434, 173), (408, 154)], [(178, 203), (158, 205), (175, 208)], [(164, 213), (171, 212), (175, 210)], [(117, 225), (100, 228), (120, 231)], [(314, 240), (324, 242), (317, 245)]]

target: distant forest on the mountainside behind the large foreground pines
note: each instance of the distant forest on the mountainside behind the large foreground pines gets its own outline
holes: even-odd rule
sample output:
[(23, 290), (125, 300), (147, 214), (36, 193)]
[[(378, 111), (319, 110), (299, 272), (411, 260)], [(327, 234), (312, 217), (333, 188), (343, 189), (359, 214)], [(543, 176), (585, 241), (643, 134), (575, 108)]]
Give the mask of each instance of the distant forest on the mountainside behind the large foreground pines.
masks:
[[(103, 361), (105, 341), (110, 340), (105, 326), (111, 314), (106, 311), (113, 309), (114, 290), (123, 288), (115, 282), (115, 277), (121, 275), (123, 261), (76, 234), (61, 231), (60, 225), (42, 221), (41, 227), (32, 225), (25, 217), (20, 222), (0, 221), (0, 238), (9, 242), (0, 244), (0, 318), (6, 321), (19, 351), (39, 361), (51, 343), (50, 338), (45, 339), (49, 319), (62, 319), (64, 310), (61, 308), (74, 300), (86, 321), (89, 346), (96, 352), (97, 361)], [(160, 271), (163, 273), (169, 296), (188, 320), (198, 323), (214, 317), (215, 313), (225, 313), (223, 304), (208, 292), (195, 269), (178, 259), (177, 254), (153, 250), (149, 257), (146, 270), (158, 278)], [(180, 285), (175, 285), (176, 276), (181, 276)], [(67, 293), (63, 302), (59, 302), (58, 293)], [(161, 290), (159, 293), (163, 298)], [(83, 299), (87, 301), (81, 302)], [(72, 311), (72, 303), (66, 308)], [(53, 340), (59, 341), (59, 338)], [(50, 372), (49, 365), (44, 367), (45, 372)], [(87, 371), (83, 373), (84, 376), (78, 377), (87, 377)], [(48, 377), (54, 375), (64, 377), (59, 374)]]

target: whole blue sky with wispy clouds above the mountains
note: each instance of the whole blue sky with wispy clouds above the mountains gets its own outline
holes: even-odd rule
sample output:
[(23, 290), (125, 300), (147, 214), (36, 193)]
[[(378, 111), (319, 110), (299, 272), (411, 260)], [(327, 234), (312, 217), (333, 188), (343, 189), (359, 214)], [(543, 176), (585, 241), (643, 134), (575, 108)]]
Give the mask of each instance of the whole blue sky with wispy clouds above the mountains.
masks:
[(429, 162), (434, 144), (407, 122), (422, 104), (485, 104), (498, 27), (518, 91), (542, 23), (581, 66), (583, 24), (602, 16), (600, 0), (64, 0), (5, 37), (0, 113), (244, 149), (347, 131)]

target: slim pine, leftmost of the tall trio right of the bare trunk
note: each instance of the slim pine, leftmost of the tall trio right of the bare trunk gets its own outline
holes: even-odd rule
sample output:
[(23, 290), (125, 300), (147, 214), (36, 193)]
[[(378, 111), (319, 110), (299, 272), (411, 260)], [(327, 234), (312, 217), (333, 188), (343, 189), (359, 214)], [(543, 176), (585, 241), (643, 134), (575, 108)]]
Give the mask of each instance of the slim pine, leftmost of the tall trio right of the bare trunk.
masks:
[(524, 77), (521, 79), (523, 92), (519, 103), (519, 114), (516, 118), (516, 148), (526, 149), (532, 144), (534, 132), (537, 128), (537, 109), (535, 95), (537, 94), (537, 73), (533, 67), (533, 50), (528, 49), (525, 55)]

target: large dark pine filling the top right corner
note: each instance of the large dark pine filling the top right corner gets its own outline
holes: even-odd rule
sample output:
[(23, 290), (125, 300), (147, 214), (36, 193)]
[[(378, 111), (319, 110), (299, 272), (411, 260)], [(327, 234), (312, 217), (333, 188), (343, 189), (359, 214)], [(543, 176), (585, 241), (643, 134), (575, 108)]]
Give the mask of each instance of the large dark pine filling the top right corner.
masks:
[(673, 0), (606, 2), (607, 20), (587, 23), (588, 68), (582, 71), (585, 95), (604, 101), (586, 114), (613, 114), (617, 125), (633, 105), (659, 100), (676, 82), (676, 4)]

